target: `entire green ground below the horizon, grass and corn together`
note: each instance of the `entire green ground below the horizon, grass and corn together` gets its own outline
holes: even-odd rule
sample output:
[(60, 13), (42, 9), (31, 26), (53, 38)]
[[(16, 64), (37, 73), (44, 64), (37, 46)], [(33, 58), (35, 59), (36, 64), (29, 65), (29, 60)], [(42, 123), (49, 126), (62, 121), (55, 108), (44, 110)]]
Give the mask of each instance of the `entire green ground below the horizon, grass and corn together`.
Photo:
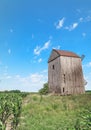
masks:
[(0, 130), (91, 130), (91, 92), (0, 93)]

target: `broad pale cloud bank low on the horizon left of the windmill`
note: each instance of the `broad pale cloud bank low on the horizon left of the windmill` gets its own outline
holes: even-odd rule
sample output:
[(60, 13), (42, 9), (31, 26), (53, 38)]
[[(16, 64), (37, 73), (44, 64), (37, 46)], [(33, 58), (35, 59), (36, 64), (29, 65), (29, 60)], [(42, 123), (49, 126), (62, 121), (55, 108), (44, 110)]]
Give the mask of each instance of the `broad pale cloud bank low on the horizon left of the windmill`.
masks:
[(20, 90), (26, 92), (37, 92), (47, 82), (46, 73), (31, 73), (22, 77), (21, 75), (0, 76), (0, 90)]

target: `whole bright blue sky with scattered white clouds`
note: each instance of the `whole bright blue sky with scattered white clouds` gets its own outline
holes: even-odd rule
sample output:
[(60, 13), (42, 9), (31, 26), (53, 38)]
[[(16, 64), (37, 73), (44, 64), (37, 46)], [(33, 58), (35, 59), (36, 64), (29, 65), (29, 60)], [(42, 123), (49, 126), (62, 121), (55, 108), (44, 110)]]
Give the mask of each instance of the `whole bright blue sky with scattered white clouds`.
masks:
[(53, 48), (85, 55), (91, 90), (91, 0), (0, 0), (0, 90), (38, 91)]

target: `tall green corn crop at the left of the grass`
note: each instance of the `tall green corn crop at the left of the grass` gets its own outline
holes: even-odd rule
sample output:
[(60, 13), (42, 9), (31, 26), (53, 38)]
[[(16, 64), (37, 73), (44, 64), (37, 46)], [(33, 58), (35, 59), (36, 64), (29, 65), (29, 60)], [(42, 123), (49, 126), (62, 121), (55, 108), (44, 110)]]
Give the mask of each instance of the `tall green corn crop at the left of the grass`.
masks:
[(15, 130), (19, 124), (22, 100), (27, 93), (0, 92), (0, 130)]

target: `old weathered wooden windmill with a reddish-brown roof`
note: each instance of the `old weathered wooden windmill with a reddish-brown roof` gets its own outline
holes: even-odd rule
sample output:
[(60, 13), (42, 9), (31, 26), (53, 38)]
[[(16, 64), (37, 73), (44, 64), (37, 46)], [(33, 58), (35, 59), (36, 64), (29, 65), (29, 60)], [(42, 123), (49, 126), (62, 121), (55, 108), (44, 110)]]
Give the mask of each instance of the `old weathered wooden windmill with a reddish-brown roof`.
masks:
[(53, 49), (48, 60), (49, 91), (61, 95), (85, 93), (82, 59), (73, 52)]

